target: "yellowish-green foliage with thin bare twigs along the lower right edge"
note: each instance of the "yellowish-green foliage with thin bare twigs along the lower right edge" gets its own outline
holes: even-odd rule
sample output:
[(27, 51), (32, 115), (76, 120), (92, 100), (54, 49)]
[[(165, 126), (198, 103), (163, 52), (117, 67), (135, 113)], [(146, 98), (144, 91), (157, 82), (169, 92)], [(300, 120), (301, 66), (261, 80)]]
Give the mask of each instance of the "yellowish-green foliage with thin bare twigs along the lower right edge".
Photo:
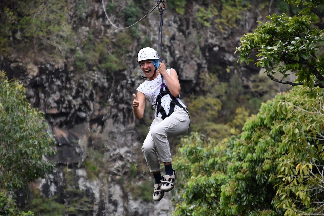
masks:
[(280, 199), (276, 206), (284, 208), (286, 215), (324, 212), (323, 92), (299, 91), (282, 100), (283, 111), (291, 120), (276, 125), (285, 132), (280, 148), (287, 152), (279, 159), (278, 177), (282, 181), (276, 185), (277, 200)]

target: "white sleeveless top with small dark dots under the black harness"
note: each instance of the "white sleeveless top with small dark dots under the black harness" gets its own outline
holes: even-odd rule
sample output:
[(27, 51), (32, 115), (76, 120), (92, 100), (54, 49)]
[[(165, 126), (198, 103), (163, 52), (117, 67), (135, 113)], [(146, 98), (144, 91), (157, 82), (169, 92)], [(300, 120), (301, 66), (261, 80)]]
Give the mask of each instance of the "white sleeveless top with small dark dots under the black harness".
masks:
[[(170, 76), (170, 69), (167, 69), (167, 73)], [(165, 80), (163, 79), (164, 84)], [(161, 74), (159, 74), (154, 80), (145, 80), (144, 83), (142, 83), (138, 88), (137, 91), (142, 92), (145, 95), (145, 99), (149, 101), (152, 105), (155, 104), (157, 96), (160, 94), (160, 88), (161, 88)], [(163, 88), (165, 90), (165, 88)], [(187, 108), (179, 98), (177, 98), (179, 103), (184, 107)], [(169, 114), (170, 109), (170, 102), (172, 101), (171, 97), (169, 95), (165, 95), (162, 97), (161, 105), (164, 108), (166, 114)], [(175, 106), (174, 111), (179, 109), (179, 106)], [(155, 109), (154, 116), (156, 116), (157, 109)], [(162, 114), (159, 112), (158, 116), (162, 117)]]

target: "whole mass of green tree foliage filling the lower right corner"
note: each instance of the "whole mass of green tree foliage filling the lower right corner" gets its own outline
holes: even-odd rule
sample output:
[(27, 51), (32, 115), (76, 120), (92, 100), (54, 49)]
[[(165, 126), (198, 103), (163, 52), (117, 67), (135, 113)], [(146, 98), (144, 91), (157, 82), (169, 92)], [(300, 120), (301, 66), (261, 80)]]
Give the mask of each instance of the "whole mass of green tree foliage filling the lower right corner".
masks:
[(228, 142), (183, 139), (176, 214), (322, 215), (323, 93), (278, 94)]

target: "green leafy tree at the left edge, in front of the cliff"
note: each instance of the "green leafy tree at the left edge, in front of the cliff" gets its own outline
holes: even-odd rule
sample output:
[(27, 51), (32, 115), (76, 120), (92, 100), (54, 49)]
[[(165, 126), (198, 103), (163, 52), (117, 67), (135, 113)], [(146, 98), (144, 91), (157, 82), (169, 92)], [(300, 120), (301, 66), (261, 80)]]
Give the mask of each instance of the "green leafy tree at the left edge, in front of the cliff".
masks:
[(0, 212), (16, 208), (8, 192), (52, 171), (54, 164), (43, 160), (54, 154), (47, 129), (43, 113), (27, 102), (23, 85), (0, 72)]

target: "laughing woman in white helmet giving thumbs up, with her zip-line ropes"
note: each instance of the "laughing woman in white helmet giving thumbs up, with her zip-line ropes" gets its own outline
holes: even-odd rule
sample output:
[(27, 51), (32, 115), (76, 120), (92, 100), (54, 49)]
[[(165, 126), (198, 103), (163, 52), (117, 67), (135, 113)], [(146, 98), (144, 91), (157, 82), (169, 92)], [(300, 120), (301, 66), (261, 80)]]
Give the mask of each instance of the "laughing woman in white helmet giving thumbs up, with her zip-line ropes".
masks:
[[(158, 7), (162, 3), (162, 7)], [(165, 0), (158, 0), (157, 5), (143, 18), (128, 27), (114, 25), (106, 12), (104, 0), (102, 0), (104, 12), (108, 21), (115, 28), (129, 28), (150, 14), (156, 7), (160, 12), (160, 26), (158, 31), (158, 45), (156, 51), (145, 47), (139, 51), (137, 62), (146, 80), (136, 89), (137, 96), (133, 94), (133, 112), (137, 119), (142, 119), (145, 110), (145, 100), (152, 104), (155, 109), (155, 119), (152, 121), (150, 130), (144, 140), (142, 151), (150, 173), (155, 179), (153, 200), (160, 201), (164, 192), (170, 191), (175, 186), (177, 174), (172, 169), (171, 152), (168, 139), (186, 133), (189, 129), (190, 118), (187, 107), (179, 99), (180, 83), (178, 74), (174, 69), (166, 69), (162, 61), (162, 14), (165, 8)], [(157, 51), (161, 45), (161, 58)], [(160, 62), (160, 60), (162, 62)], [(160, 160), (164, 163), (165, 176), (161, 175)]]

